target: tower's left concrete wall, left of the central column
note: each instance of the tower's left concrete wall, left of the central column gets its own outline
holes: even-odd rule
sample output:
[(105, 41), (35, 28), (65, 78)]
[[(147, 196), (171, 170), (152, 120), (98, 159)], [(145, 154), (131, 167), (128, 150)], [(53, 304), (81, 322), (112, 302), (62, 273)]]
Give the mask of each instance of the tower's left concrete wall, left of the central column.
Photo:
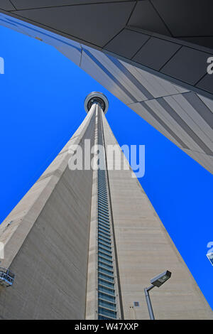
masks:
[(16, 274), (1, 319), (84, 318), (92, 171), (70, 171), (67, 149), (94, 137), (93, 112), (0, 226), (1, 266)]

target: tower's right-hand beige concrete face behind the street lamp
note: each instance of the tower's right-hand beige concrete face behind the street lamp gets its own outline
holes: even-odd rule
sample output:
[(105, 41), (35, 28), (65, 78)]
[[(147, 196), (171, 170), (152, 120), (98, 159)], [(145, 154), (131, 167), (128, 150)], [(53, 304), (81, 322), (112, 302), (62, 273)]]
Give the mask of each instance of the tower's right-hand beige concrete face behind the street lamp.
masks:
[[(106, 144), (117, 144), (103, 116)], [(109, 163), (109, 158), (107, 159)], [(168, 269), (172, 276), (150, 292), (156, 319), (212, 319), (195, 279), (132, 171), (109, 171), (119, 277), (125, 319), (148, 319), (143, 289)], [(133, 307), (138, 301), (140, 306)]]

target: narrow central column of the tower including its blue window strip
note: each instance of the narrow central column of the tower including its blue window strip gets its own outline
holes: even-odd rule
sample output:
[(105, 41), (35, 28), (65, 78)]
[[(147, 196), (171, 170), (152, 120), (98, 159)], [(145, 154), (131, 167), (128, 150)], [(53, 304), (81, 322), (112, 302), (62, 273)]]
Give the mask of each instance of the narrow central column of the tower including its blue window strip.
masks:
[(93, 172), (86, 318), (120, 319), (121, 292), (103, 134), (104, 110), (102, 102), (96, 100), (93, 105), (96, 113), (94, 144), (97, 146), (94, 157), (99, 158), (99, 166)]

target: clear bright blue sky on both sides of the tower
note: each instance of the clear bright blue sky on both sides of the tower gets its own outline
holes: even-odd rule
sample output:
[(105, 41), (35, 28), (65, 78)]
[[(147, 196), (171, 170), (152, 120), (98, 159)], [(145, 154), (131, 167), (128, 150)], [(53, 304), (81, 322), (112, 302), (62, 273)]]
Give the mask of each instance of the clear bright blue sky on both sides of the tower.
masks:
[(213, 308), (212, 175), (53, 47), (1, 26), (0, 42), (0, 221), (81, 124), (84, 97), (104, 92), (119, 144), (146, 145), (139, 181)]

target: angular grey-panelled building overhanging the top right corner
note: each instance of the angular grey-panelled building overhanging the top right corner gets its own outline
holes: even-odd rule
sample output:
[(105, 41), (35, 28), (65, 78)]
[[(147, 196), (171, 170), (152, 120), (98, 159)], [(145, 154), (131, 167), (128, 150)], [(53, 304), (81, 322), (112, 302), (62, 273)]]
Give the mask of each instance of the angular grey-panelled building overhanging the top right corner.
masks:
[(4, 0), (0, 24), (53, 45), (213, 173), (212, 9), (209, 0)]

